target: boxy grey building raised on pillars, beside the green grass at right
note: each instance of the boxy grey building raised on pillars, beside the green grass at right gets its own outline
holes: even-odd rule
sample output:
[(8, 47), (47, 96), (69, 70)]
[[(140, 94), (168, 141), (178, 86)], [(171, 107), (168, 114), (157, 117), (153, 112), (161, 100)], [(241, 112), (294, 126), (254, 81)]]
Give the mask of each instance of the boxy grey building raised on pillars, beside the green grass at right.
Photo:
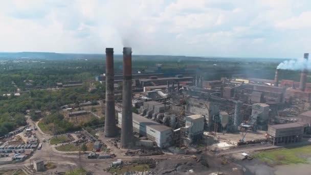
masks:
[(303, 125), (299, 123), (269, 125), (269, 142), (273, 145), (299, 142), (302, 139), (303, 128)]

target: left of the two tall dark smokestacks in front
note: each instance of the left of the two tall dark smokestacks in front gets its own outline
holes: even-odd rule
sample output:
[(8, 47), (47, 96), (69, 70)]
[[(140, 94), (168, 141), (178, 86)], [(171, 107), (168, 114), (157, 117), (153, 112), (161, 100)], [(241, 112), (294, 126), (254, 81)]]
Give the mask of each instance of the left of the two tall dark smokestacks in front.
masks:
[(115, 83), (114, 48), (106, 48), (105, 137), (115, 137), (117, 135), (114, 83)]

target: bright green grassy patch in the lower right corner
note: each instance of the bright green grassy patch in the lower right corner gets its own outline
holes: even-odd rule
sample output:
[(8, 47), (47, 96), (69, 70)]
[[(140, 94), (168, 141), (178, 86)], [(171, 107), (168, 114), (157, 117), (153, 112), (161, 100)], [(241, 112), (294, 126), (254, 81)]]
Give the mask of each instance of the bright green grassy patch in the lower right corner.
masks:
[(267, 150), (254, 155), (255, 158), (271, 165), (309, 163), (307, 157), (310, 156), (311, 146)]

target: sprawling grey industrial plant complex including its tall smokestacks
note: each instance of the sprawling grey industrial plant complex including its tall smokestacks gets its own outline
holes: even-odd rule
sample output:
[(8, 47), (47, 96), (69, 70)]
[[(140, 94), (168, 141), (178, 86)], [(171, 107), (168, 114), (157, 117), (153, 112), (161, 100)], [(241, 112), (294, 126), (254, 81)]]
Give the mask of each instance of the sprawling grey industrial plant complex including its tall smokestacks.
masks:
[[(113, 138), (119, 133), (119, 148), (219, 142), (228, 146), (290, 144), (310, 132), (307, 69), (301, 70), (300, 82), (280, 80), (281, 69), (276, 69), (274, 80), (205, 81), (199, 72), (132, 75), (131, 53), (131, 48), (123, 48), (123, 75), (115, 75), (113, 49), (107, 48), (105, 81), (101, 81), (107, 90), (105, 136)], [(307, 53), (304, 59), (308, 59)], [(114, 89), (119, 85), (123, 87), (119, 92), (122, 102), (115, 103)]]

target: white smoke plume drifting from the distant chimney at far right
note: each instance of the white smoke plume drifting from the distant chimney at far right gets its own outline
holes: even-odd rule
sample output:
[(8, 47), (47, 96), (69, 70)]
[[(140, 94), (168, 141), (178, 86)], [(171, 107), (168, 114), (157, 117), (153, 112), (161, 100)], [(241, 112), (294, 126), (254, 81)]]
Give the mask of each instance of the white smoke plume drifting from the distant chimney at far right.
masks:
[(277, 69), (283, 69), (283, 70), (311, 70), (311, 61), (304, 58), (298, 58), (296, 60), (286, 60), (281, 62)]

